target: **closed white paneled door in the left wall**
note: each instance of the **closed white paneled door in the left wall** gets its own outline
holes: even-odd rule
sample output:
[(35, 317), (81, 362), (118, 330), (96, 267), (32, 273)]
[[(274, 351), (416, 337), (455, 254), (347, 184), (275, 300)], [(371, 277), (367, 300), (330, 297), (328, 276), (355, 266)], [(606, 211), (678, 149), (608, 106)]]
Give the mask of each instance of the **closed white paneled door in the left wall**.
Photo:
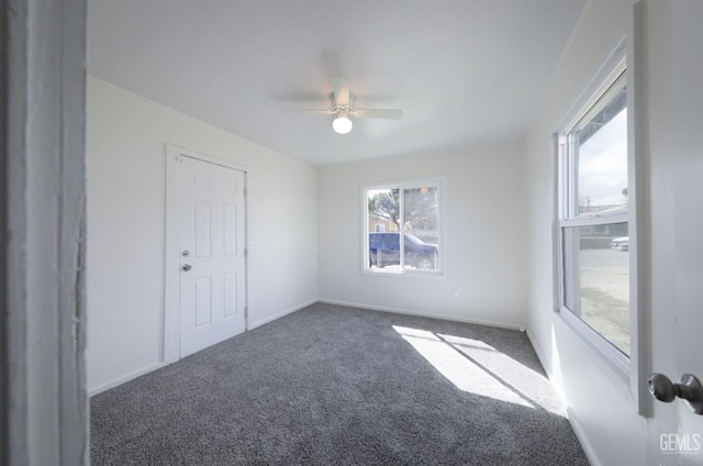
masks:
[(180, 155), (180, 357), (246, 328), (245, 174)]

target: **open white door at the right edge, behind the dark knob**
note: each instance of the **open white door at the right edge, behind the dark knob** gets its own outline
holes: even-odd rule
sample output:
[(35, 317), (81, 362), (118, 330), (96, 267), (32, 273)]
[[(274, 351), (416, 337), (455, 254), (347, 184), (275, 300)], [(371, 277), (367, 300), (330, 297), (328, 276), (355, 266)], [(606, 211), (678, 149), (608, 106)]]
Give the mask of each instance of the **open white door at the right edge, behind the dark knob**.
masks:
[[(676, 157), (674, 381), (692, 374), (703, 384), (703, 2), (673, 5), (673, 137)], [(703, 464), (703, 415), (678, 401), (679, 464)]]

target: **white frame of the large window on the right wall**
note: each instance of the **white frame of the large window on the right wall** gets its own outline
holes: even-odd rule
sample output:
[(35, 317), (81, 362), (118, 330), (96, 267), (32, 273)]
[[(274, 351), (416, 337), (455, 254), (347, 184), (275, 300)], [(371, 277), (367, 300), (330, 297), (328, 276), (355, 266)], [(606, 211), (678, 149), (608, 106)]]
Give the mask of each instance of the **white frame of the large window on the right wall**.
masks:
[[(563, 321), (579, 334), (588, 345), (594, 350), (594, 353), (611, 367), (613, 374), (620, 378), (624, 384), (629, 386), (631, 392), (634, 397), (635, 403), (638, 407), (638, 411), (644, 412), (643, 403), (640, 402), (643, 396), (640, 393), (640, 379), (641, 379), (641, 360), (639, 357), (639, 333), (641, 326), (639, 325), (639, 315), (641, 310), (637, 300), (638, 295), (638, 274), (637, 274), (637, 257), (641, 253), (637, 248), (637, 160), (635, 146), (635, 129), (636, 129), (636, 101), (635, 101), (635, 78), (634, 78), (634, 64), (632, 56), (634, 55), (633, 48), (623, 38), (611, 56), (605, 60), (601, 69), (595, 74), (595, 77), (587, 86), (585, 91), (581, 95), (577, 102), (569, 112), (567, 118), (562, 120), (562, 124), (558, 125), (558, 131), (553, 136), (554, 141), (554, 154), (555, 154), (555, 204), (554, 204), (554, 257), (555, 257), (555, 274), (554, 274), (554, 287), (555, 287), (555, 306), (554, 310)], [(573, 206), (569, 204), (569, 201), (573, 199), (573, 191), (570, 191), (573, 186), (572, 175), (576, 173), (572, 169), (572, 159), (570, 156), (565, 157), (566, 147), (563, 144), (566, 135), (578, 127), (579, 123), (587, 116), (593, 114), (594, 109), (598, 106), (602, 106), (604, 97), (607, 96), (609, 90), (616, 84), (618, 79), (624, 77), (626, 82), (627, 92), (627, 189), (628, 189), (628, 208), (624, 213), (612, 214), (591, 214), (591, 215), (573, 215)], [(567, 181), (569, 180), (569, 181)], [(613, 224), (627, 222), (628, 235), (629, 235), (629, 340), (631, 351), (629, 356), (621, 352), (613, 343), (611, 343), (605, 336), (592, 329), (588, 323), (576, 315), (570, 309), (566, 307), (566, 287), (569, 280), (567, 280), (567, 266), (565, 263), (565, 228), (579, 228), (579, 226), (594, 226), (602, 224)]]

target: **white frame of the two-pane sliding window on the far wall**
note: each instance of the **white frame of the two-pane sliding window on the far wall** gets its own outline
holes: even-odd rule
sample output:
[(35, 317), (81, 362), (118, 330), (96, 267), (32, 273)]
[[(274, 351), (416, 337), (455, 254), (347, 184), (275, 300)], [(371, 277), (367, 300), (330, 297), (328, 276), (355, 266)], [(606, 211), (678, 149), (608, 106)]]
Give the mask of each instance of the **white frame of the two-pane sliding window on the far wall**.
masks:
[[(403, 200), (403, 190), (412, 189), (412, 188), (421, 188), (426, 186), (436, 186), (437, 187), (437, 268), (432, 270), (426, 269), (412, 269), (404, 267), (404, 254), (401, 254), (400, 259), (400, 268), (399, 269), (383, 269), (376, 268), (371, 269), (369, 264), (369, 211), (368, 211), (368, 191), (370, 190), (383, 190), (383, 189), (399, 189), (400, 190), (400, 212), (401, 212), (401, 221), (403, 224), (403, 215), (404, 215), (404, 200)], [(444, 277), (444, 215), (443, 209), (445, 203), (445, 179), (442, 176), (436, 177), (424, 177), (424, 178), (408, 178), (395, 181), (387, 181), (387, 182), (378, 182), (378, 184), (368, 184), (362, 185), (360, 189), (361, 193), (361, 274), (362, 275), (373, 275), (373, 276), (391, 276), (391, 277), (425, 277), (425, 278), (442, 278)], [(386, 231), (388, 233), (388, 231)], [(404, 251), (404, 236), (399, 235), (400, 240), (400, 251)]]

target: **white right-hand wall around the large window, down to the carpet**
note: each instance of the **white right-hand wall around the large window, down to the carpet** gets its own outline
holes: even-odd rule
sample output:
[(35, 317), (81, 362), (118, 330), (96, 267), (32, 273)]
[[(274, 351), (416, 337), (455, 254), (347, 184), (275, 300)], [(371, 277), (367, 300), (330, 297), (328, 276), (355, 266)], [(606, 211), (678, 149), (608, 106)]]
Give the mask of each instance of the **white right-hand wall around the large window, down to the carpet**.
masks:
[(542, 363), (566, 397), (569, 414), (595, 464), (645, 464), (645, 421), (627, 382), (553, 311), (551, 134), (626, 31), (632, 1), (588, 4), (529, 133), (529, 336)]

